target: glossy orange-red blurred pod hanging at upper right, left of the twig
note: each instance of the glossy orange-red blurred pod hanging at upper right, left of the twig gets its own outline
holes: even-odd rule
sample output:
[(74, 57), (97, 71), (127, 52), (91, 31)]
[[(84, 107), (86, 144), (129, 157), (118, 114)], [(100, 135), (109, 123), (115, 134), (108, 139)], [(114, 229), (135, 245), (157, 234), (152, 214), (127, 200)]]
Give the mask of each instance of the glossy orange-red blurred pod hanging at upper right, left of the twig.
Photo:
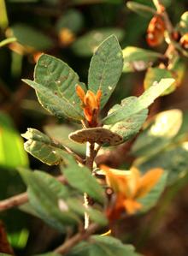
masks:
[(154, 16), (148, 26), (146, 40), (148, 45), (155, 47), (164, 40), (165, 24), (159, 15)]

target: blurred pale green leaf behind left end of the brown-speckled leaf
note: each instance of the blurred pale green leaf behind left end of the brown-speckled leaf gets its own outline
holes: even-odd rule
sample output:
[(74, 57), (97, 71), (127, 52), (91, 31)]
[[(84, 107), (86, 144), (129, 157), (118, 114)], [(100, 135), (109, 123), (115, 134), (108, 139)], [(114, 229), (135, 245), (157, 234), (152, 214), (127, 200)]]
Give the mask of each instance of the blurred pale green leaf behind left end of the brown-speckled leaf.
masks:
[(73, 142), (68, 139), (68, 135), (73, 133), (76, 128), (69, 127), (65, 124), (49, 124), (44, 126), (44, 132), (50, 136), (53, 140), (58, 141), (64, 146), (68, 146), (73, 152), (78, 152), (82, 155), (85, 154), (85, 145)]

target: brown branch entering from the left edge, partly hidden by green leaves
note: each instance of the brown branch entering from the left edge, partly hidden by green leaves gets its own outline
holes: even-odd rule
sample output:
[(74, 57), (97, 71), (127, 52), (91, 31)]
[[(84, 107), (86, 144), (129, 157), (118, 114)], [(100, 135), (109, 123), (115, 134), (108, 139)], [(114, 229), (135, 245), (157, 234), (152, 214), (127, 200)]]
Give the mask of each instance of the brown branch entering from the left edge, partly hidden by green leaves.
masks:
[[(56, 179), (63, 184), (66, 183), (66, 180), (63, 176), (58, 176)], [(9, 210), (12, 207), (23, 205), (26, 202), (28, 202), (28, 194), (26, 192), (20, 193), (18, 195), (10, 197), (9, 199), (4, 199), (0, 201), (0, 211)]]

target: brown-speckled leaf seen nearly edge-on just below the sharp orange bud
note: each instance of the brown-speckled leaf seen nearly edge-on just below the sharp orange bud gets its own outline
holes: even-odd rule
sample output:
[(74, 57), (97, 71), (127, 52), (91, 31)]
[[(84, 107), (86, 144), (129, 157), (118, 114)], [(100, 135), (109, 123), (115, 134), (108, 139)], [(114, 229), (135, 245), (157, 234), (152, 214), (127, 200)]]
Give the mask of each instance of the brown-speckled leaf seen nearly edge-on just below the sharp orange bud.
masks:
[(69, 139), (85, 143), (87, 141), (91, 143), (97, 143), (99, 145), (115, 146), (123, 141), (123, 138), (119, 134), (115, 134), (106, 128), (87, 128), (81, 129), (69, 134)]

